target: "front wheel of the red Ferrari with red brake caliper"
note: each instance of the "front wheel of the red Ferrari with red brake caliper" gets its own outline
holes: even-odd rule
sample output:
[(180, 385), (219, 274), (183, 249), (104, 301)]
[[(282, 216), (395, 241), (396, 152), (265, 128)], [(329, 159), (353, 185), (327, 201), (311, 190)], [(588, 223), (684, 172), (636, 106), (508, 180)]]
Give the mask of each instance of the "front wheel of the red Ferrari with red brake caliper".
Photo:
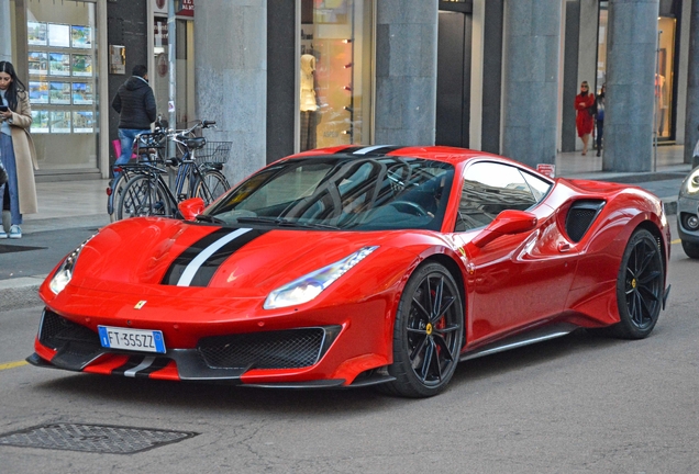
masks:
[(454, 278), (439, 263), (419, 268), (401, 295), (393, 328), (396, 377), (380, 387), (406, 397), (429, 397), (448, 384), (464, 334), (464, 311)]

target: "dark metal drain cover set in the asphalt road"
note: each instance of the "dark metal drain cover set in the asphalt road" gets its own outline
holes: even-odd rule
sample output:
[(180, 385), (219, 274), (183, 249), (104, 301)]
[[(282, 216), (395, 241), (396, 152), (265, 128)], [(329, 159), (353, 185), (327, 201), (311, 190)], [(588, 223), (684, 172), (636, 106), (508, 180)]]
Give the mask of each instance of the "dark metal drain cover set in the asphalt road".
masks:
[(52, 424), (0, 435), (0, 445), (132, 454), (199, 433), (110, 425)]

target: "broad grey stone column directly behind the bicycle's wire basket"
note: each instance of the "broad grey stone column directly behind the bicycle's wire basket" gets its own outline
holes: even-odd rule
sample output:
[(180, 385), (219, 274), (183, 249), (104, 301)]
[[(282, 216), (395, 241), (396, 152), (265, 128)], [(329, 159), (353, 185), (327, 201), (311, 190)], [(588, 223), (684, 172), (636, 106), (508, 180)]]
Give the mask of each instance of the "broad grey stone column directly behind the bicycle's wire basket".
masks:
[(233, 142), (234, 183), (266, 165), (267, 1), (198, 2), (195, 50), (197, 116), (217, 121), (207, 138)]

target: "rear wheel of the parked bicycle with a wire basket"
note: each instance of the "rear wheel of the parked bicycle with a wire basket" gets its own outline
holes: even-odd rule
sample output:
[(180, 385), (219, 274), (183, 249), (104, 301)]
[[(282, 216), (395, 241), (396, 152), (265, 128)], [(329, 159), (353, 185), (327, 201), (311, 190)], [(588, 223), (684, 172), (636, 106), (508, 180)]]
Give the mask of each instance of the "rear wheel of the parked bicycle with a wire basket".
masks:
[(173, 206), (164, 184), (142, 174), (129, 180), (121, 194), (116, 218), (136, 216), (173, 216)]

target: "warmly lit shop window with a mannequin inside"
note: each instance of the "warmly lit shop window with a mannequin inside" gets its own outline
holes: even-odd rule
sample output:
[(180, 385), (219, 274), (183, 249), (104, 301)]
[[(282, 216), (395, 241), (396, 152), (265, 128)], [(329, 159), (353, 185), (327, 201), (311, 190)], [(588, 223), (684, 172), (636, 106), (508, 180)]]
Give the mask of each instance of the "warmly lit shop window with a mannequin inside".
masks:
[(371, 0), (302, 0), (300, 149), (370, 143)]

